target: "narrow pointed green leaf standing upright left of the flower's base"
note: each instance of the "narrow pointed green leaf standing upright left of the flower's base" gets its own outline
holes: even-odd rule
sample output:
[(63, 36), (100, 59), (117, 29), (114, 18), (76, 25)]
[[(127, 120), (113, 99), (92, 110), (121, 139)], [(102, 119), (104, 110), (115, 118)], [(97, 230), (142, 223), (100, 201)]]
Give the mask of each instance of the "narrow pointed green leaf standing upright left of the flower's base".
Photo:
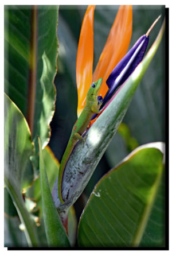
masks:
[(41, 181), (41, 197), (42, 197), (42, 210), (44, 216), (45, 232), (48, 245), (53, 247), (69, 247), (69, 240), (62, 226), (60, 216), (57, 213), (56, 207), (53, 202), (52, 193), (50, 191), (48, 177), (42, 156), (41, 141), (38, 137), (40, 148), (40, 181)]

